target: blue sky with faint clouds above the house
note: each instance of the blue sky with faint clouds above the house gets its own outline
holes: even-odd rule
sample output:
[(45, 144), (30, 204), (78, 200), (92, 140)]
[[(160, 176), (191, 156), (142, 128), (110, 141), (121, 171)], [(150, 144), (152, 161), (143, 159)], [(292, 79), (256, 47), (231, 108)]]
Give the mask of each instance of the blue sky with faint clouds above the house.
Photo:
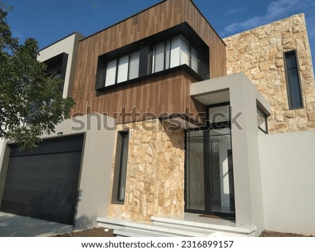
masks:
[[(75, 31), (85, 36), (98, 32), (160, 0), (0, 0), (13, 11), (8, 23), (13, 35), (33, 37), (48, 46)], [(221, 37), (304, 13), (313, 61), (315, 58), (314, 0), (194, 0)]]

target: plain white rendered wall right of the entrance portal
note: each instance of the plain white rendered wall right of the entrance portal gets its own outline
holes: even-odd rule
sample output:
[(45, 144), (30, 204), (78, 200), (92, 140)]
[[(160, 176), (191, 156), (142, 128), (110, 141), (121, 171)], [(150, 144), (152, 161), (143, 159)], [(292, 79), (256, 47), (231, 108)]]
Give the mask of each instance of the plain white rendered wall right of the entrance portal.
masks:
[(259, 135), (265, 229), (315, 234), (315, 130)]

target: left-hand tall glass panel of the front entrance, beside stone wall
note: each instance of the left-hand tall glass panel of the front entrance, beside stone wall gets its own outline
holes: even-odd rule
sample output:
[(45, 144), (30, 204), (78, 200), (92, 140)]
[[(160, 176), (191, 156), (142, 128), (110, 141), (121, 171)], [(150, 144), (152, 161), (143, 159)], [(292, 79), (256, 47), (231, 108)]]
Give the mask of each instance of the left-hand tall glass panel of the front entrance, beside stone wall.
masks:
[(204, 140), (201, 131), (186, 137), (186, 208), (204, 208)]

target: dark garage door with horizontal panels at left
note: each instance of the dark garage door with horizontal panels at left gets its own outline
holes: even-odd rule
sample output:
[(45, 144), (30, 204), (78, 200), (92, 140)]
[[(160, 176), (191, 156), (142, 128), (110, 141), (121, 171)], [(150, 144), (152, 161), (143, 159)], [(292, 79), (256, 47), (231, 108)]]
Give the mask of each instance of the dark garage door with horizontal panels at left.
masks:
[(62, 224), (73, 224), (84, 135), (57, 137), (37, 149), (10, 147), (0, 210)]

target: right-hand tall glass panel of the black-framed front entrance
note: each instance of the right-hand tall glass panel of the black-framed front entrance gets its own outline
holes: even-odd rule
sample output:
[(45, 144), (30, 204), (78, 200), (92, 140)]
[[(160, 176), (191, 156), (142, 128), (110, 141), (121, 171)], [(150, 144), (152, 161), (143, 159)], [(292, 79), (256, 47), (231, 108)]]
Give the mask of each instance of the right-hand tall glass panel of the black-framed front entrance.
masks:
[(230, 135), (210, 137), (211, 212), (235, 212)]

